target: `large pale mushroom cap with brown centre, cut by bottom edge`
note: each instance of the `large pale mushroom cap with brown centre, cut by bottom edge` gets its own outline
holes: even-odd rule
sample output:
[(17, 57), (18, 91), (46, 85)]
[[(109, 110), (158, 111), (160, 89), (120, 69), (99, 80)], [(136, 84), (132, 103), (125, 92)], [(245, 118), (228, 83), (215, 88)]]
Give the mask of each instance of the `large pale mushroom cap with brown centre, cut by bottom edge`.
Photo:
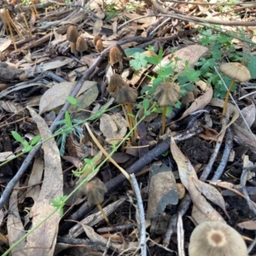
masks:
[(209, 221), (193, 230), (189, 256), (247, 256), (247, 246), (240, 234), (228, 224)]

